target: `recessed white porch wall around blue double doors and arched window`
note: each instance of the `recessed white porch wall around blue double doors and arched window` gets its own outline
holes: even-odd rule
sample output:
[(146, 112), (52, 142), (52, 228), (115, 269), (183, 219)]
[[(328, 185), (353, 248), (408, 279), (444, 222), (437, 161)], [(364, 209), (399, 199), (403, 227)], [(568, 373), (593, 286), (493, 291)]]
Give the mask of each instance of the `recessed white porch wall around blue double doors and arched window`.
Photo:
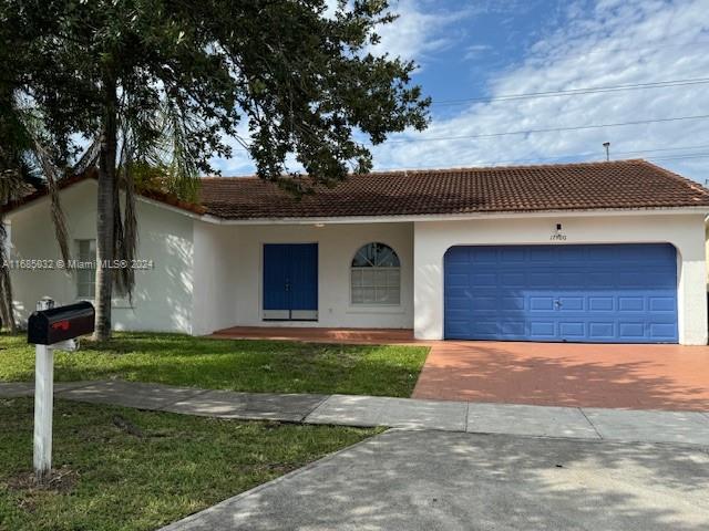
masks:
[[(207, 243), (209, 241), (210, 243)], [(228, 253), (219, 253), (213, 266), (199, 264), (207, 249), (224, 243)], [(350, 263), (357, 250), (380, 241), (392, 247), (401, 262), (401, 304), (395, 306), (360, 306), (350, 303)], [(261, 320), (261, 282), (264, 243), (318, 243), (317, 322), (264, 322)], [(204, 250), (204, 251), (203, 251)], [(201, 227), (195, 230), (195, 287), (205, 289), (195, 303), (195, 316), (205, 319), (195, 330), (212, 332), (227, 325), (243, 326), (325, 326), (387, 327), (413, 326), (413, 227), (412, 223), (351, 225), (270, 225)], [(196, 288), (195, 293), (199, 293)], [(213, 295), (206, 295), (207, 292)], [(215, 298), (215, 303), (208, 299)], [(197, 299), (197, 296), (196, 296)], [(204, 313), (202, 310), (205, 309)], [(218, 309), (218, 310), (217, 310)], [(213, 312), (210, 317), (209, 312)], [(216, 316), (214, 313), (220, 313)], [(227, 322), (226, 316), (232, 316)], [(212, 324), (210, 324), (212, 323)], [(210, 330), (209, 330), (210, 329)]]

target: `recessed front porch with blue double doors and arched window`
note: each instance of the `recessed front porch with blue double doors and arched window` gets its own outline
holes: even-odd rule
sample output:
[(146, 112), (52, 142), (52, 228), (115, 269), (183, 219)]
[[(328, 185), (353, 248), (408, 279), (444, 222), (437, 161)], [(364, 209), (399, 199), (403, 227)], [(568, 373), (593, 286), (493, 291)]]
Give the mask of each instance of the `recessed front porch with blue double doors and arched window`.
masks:
[[(302, 332), (309, 341), (412, 341), (412, 223), (198, 223), (194, 238), (192, 335), (237, 326), (233, 334), (263, 339), (260, 327), (278, 326), (266, 334), (312, 327), (323, 332)], [(381, 256), (362, 259), (372, 247)]]

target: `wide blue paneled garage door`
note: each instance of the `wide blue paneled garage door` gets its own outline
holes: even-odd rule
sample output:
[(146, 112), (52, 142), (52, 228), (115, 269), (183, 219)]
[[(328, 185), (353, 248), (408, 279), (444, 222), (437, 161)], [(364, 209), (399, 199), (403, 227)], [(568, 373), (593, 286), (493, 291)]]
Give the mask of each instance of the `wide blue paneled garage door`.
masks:
[(677, 343), (670, 244), (453, 247), (446, 339)]

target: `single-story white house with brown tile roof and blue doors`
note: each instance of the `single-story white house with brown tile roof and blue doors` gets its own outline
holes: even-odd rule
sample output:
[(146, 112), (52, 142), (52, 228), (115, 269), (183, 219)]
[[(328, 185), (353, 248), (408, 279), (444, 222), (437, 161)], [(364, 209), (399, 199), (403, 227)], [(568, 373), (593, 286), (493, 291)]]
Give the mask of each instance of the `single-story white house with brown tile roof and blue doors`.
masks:
[[(61, 191), (95, 250), (93, 178)], [(707, 344), (709, 190), (645, 160), (354, 175), (300, 200), (209, 177), (198, 204), (137, 205), (116, 330), (413, 329), (418, 339)], [(16, 260), (56, 260), (38, 192), (6, 217)], [(13, 269), (16, 309), (92, 299), (94, 272)]]

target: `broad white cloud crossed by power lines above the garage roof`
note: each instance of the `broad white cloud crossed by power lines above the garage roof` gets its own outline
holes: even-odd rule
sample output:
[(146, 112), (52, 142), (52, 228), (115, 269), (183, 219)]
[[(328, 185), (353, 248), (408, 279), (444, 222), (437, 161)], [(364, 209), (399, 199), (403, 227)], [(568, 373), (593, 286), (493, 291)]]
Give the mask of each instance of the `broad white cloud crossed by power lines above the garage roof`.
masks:
[[(605, 0), (592, 11), (573, 4), (563, 28), (542, 37), (521, 65), (491, 82), (491, 96), (706, 77), (709, 72), (709, 54), (706, 53), (708, 9), (707, 0)], [(709, 85), (471, 103), (451, 108), (460, 111), (434, 119), (423, 133), (404, 137), (465, 136), (708, 114)], [(709, 121), (485, 139), (390, 143), (377, 147), (374, 153), (377, 166), (382, 168), (445, 167), (546, 159), (590, 152), (597, 153), (595, 158), (602, 158), (605, 140), (612, 142), (612, 154), (709, 145)], [(707, 152), (709, 148), (705, 149)], [(662, 152), (661, 155), (669, 157), (684, 153), (698, 150)], [(650, 158), (653, 154), (637, 156), (641, 155)], [(703, 163), (707, 160), (709, 158)], [(700, 181), (707, 174), (702, 173), (701, 159), (658, 163)]]

